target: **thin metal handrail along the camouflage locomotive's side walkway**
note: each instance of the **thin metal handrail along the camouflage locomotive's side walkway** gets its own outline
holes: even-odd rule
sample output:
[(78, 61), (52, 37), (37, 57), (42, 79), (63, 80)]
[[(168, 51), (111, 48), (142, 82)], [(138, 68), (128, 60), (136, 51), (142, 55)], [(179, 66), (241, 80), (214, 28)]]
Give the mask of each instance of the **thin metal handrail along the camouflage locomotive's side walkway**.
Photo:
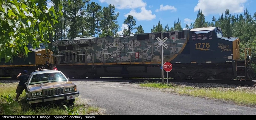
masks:
[[(175, 44), (166, 44), (166, 45), (178, 45), (178, 44), (189, 44), (189, 43), (175, 43)], [(157, 45), (157, 44), (156, 44)], [(105, 63), (108, 63), (109, 61), (105, 61), (106, 59), (105, 59), (105, 56), (106, 55), (109, 55), (109, 54), (113, 54), (113, 57), (112, 58), (116, 58), (115, 59), (115, 62), (114, 62), (114, 60), (112, 60), (113, 62), (112, 63), (118, 63), (118, 60), (117, 60), (117, 56), (118, 56), (118, 54), (129, 54), (128, 56), (129, 56), (129, 61), (122, 61), (122, 62), (130, 62), (131, 63), (131, 53), (143, 53), (142, 54), (142, 60), (141, 61), (135, 61), (135, 62), (142, 62), (142, 63), (144, 63), (144, 62), (150, 62), (150, 61), (144, 61), (144, 53), (147, 53), (147, 52), (149, 52), (151, 49), (152, 49), (152, 46), (156, 46), (156, 45), (150, 45), (148, 48), (146, 48), (147, 50), (146, 51), (142, 51), (142, 52), (121, 52), (121, 53), (95, 53), (95, 54), (73, 54), (73, 55), (54, 55), (54, 64), (61, 64), (61, 63), (56, 63), (57, 61), (56, 61), (56, 58), (57, 57), (62, 57), (62, 59), (64, 59), (65, 58), (65, 62), (62, 62), (62, 64), (70, 64), (70, 63), (72, 63), (73, 62), (73, 64), (75, 63), (75, 55), (80, 55), (80, 57), (82, 56), (82, 55), (85, 55), (85, 61), (82, 61), (81, 62), (81, 60), (80, 61), (78, 61), (78, 62), (76, 62), (76, 63), (90, 63), (90, 64), (94, 64), (95, 63), (95, 60), (94, 60), (94, 55), (102, 55), (103, 56), (103, 62), (101, 61), (100, 63), (103, 63), (103, 64), (105, 64)], [(168, 50), (168, 51), (170, 51), (170, 50)], [(152, 51), (153, 52), (153, 51)], [(173, 50), (173, 53), (175, 54), (175, 50)], [(91, 59), (89, 60), (89, 62), (88, 62), (88, 59), (87, 59), (87, 55), (91, 55)], [(160, 54), (159, 54), (160, 55)], [(63, 56), (65, 56), (65, 57), (63, 57)], [(70, 56), (70, 57), (68, 57), (68, 56)], [(127, 55), (125, 55), (125, 56), (127, 56)], [(127, 56), (127, 57), (128, 57)], [(69, 60), (72, 60), (72, 62), (68, 62), (69, 60), (68, 60), (68, 58), (70, 58)], [(78, 59), (78, 58), (77, 58)], [(97, 63), (97, 62), (96, 62)], [(109, 63), (111, 63), (111, 62), (109, 62)], [(98, 63), (99, 64), (99, 63)]]

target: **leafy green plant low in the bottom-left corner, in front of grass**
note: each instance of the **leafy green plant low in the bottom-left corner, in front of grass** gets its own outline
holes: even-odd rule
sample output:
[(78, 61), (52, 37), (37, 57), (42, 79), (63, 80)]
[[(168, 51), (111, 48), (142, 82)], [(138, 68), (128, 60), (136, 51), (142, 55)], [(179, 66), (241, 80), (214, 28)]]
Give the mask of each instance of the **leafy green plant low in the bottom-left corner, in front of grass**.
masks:
[(1, 95), (1, 98), (3, 101), (6, 101), (6, 103), (1, 102), (1, 106), (4, 109), (4, 112), (6, 115), (10, 115), (13, 112), (11, 110), (9, 110), (9, 107), (13, 106), (13, 105), (17, 105), (18, 103), (15, 102), (12, 97), (10, 96), (10, 94), (8, 96), (3, 96)]

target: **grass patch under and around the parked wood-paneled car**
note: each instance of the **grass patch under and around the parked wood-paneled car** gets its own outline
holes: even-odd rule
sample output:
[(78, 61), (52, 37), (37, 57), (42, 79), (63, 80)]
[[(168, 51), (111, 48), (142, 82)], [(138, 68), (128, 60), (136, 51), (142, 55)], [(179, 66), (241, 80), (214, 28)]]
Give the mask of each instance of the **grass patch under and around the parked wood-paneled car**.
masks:
[[(18, 83), (2, 83), (0, 85), (0, 95), (10, 96), (15, 99), (16, 98), (16, 88)], [(76, 103), (74, 105), (69, 105), (68, 101), (56, 101), (49, 103), (38, 103), (38, 104), (27, 104), (26, 103), (26, 93), (25, 90), (19, 97), (18, 105), (11, 106), (9, 110), (13, 111), (12, 115), (68, 115), (67, 110), (63, 105), (67, 105), (69, 109), (73, 109), (73, 111), (79, 111), (79, 114), (89, 114), (91, 112), (98, 112), (99, 108), (96, 109), (94, 107), (84, 107), (83, 103), (78, 104), (79, 99), (76, 98)], [(1, 102), (6, 102), (0, 99)], [(0, 106), (0, 115), (4, 115), (4, 110), (2, 106)]]

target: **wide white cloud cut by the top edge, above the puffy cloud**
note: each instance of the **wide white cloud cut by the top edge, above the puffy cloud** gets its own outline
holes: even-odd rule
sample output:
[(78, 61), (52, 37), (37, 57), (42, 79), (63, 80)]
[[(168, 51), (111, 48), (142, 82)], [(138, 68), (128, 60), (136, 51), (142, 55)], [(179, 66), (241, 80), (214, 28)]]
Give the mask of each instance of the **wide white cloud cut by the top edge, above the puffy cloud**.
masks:
[(140, 8), (147, 5), (142, 0), (100, 0), (100, 2), (115, 5), (118, 9)]

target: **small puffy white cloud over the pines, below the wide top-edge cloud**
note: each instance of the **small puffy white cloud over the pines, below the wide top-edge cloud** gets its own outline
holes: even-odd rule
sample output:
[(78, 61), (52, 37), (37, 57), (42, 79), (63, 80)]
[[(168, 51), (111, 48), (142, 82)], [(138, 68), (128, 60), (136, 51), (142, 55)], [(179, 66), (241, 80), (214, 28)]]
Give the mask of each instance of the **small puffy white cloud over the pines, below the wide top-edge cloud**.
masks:
[(156, 15), (152, 15), (151, 10), (146, 10), (145, 7), (141, 8), (141, 12), (137, 13), (136, 10), (132, 9), (129, 13), (125, 14), (124, 16), (127, 17), (128, 15), (132, 15), (135, 17), (138, 21), (140, 20), (153, 20), (156, 18)]

